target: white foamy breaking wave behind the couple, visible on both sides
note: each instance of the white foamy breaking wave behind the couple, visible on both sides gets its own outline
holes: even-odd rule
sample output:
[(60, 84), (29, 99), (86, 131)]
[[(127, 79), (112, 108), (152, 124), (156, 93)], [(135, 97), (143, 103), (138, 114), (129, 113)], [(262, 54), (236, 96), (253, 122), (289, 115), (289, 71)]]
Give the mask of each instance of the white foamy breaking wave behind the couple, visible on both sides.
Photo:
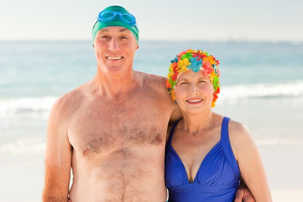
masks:
[[(281, 84), (247, 84), (222, 86), (220, 100), (235, 100), (262, 97), (297, 97), (303, 96), (303, 81)], [(0, 114), (19, 112), (49, 111), (58, 97), (21, 97), (0, 100)]]

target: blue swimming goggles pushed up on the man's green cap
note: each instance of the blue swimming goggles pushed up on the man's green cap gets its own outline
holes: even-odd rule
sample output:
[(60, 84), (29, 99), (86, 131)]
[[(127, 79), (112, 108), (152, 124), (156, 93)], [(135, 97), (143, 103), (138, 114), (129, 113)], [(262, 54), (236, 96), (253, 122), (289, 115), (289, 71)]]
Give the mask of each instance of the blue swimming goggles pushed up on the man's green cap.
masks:
[(120, 20), (128, 25), (131, 26), (136, 26), (136, 17), (131, 15), (131, 14), (127, 14), (127, 13), (121, 13), (119, 11), (102, 11), (99, 13), (98, 17), (97, 17), (97, 21), (99, 22), (110, 22), (113, 21), (116, 16), (119, 16)]

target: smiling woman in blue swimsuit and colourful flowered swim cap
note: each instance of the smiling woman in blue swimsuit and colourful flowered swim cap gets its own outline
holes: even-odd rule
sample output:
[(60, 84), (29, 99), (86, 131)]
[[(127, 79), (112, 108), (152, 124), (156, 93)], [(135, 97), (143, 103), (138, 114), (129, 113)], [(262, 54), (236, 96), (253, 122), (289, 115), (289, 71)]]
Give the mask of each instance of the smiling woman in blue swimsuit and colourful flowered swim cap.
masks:
[(171, 61), (167, 88), (183, 119), (168, 128), (168, 202), (233, 202), (242, 178), (256, 202), (272, 202), (257, 146), (247, 127), (214, 113), (219, 61), (187, 50)]

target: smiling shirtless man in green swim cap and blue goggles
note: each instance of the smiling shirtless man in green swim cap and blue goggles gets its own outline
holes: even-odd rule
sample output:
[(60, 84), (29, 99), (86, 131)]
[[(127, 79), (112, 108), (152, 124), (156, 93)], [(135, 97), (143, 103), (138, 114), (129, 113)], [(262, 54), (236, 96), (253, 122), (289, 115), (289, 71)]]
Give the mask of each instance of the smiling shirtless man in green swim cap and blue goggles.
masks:
[(133, 70), (138, 28), (124, 8), (102, 11), (92, 40), (96, 76), (50, 113), (43, 201), (165, 202), (167, 125), (181, 118), (166, 79)]

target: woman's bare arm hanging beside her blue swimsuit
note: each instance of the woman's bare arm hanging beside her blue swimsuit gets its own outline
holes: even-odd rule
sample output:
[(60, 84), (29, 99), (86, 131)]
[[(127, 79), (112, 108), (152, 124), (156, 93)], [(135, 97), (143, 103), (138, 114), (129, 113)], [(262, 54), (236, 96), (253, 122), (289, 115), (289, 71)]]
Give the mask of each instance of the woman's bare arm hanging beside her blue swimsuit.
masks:
[(237, 159), (241, 178), (253, 194), (256, 202), (272, 202), (265, 169), (257, 145), (248, 128), (241, 123), (230, 121), (229, 140)]

